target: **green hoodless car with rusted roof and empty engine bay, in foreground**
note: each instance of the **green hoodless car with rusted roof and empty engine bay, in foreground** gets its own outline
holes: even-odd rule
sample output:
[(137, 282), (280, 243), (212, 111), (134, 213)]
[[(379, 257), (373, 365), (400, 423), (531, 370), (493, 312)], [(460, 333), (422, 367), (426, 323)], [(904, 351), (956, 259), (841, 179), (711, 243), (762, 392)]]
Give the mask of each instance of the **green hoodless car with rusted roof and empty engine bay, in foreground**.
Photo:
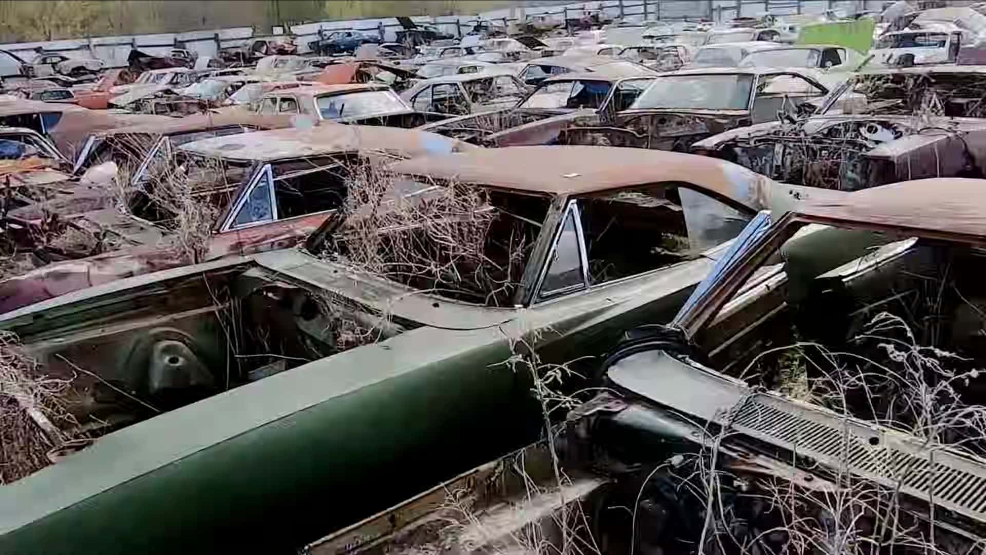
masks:
[[(522, 152), (538, 159), (566, 151), (570, 159), (557, 161), (557, 167), (567, 164), (583, 179), (558, 183), (602, 183), (599, 189), (609, 190), (655, 183), (693, 188), (726, 198), (746, 219), (763, 207), (758, 199), (777, 187), (727, 162), (666, 152), (516, 147), (468, 156), (521, 156), (517, 151), (524, 149), (543, 149)], [(589, 153), (605, 155), (628, 175), (637, 167), (634, 160), (651, 169), (640, 177), (607, 177), (605, 172), (615, 171), (586, 159)], [(397, 169), (441, 179), (444, 162), (436, 160), (411, 160), (416, 165), (402, 168), (403, 162)], [(497, 186), (481, 176), (466, 179), (468, 168), (485, 168), (485, 160), (474, 166), (469, 158), (461, 160), (465, 169), (455, 171), (463, 181)], [(513, 162), (500, 168), (523, 166)], [(429, 164), (431, 170), (422, 170)], [(711, 190), (702, 181), (712, 179), (709, 168), (726, 176), (715, 178), (719, 182)], [(564, 218), (584, 195), (599, 193), (594, 187), (551, 193), (518, 297), (528, 300), (515, 306), (414, 291), (289, 249), (121, 279), (5, 314), (0, 329), (17, 333), (42, 364), (60, 364), (64, 371), (88, 367), (93, 372), (87, 375), (98, 373), (130, 391), (146, 390), (147, 368), (158, 363), (157, 351), (134, 355), (146, 351), (147, 337), (158, 342), (154, 346), (191, 338), (190, 349), (211, 361), (210, 367), (225, 362), (229, 368), (238, 356), (229, 355), (224, 342), (241, 333), (220, 317), (229, 306), (240, 311), (243, 326), (269, 324), (264, 329), (276, 336), (271, 341), (321, 333), (312, 332), (311, 324), (322, 326), (322, 314), (305, 307), (328, 297), (342, 299), (342, 313), (362, 321), (377, 318), (377, 328), (395, 331), (381, 333), (374, 343), (291, 362), (286, 371), (270, 371), (238, 387), (229, 387), (228, 373), (223, 387), (221, 372), (214, 372), (208, 379), (221, 392), (161, 414), (145, 411), (134, 423), (107, 429), (79, 452), (2, 489), (0, 550), (298, 548), (527, 444), (540, 434), (542, 420), (527, 367), (510, 363), (515, 354), (530, 349), (544, 362), (564, 363), (605, 352), (628, 328), (668, 321), (728, 248), (721, 242), (664, 268), (596, 286), (587, 282), (541, 300), (538, 288), (555, 260)], [(732, 195), (731, 188), (743, 192)], [(389, 323), (382, 324), (384, 319)], [(73, 362), (66, 368), (68, 359)], [(79, 388), (102, 387), (87, 383)], [(125, 402), (113, 401), (117, 407)]]

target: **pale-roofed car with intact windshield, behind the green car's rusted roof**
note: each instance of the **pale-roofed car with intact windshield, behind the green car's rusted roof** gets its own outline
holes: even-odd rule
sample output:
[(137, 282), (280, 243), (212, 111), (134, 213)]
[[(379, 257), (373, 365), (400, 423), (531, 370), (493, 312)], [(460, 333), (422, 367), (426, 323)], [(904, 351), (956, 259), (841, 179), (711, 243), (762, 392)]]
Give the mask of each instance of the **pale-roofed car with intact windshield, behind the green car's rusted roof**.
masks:
[(610, 123), (572, 126), (560, 140), (687, 152), (736, 127), (791, 117), (828, 89), (798, 69), (709, 68), (661, 74)]

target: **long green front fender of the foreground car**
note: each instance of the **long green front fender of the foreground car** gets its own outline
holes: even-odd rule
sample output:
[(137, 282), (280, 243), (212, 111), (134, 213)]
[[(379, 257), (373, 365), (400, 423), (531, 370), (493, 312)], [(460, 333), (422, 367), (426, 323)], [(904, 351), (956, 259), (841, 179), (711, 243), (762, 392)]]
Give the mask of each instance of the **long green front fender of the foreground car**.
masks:
[[(458, 341), (474, 347), (453, 357), (434, 357), (414, 370), (370, 380), (339, 395), (324, 392), (323, 400), (314, 406), (258, 426), (244, 426), (240, 434), (187, 456), (176, 456), (167, 464), (31, 523), (10, 529), (9, 521), (5, 522), (10, 531), (0, 536), (0, 552), (224, 552), (233, 546), (246, 547), (250, 552), (283, 552), (537, 436), (539, 419), (526, 376), (496, 364), (510, 355), (498, 331), (415, 332), (404, 337), (417, 335), (422, 346)], [(439, 336), (446, 336), (446, 341), (439, 341)], [(371, 346), (371, 350), (379, 350), (380, 345)], [(348, 358), (354, 365), (321, 364), (319, 368), (315, 362), (285, 374), (303, 370), (287, 377), (295, 387), (315, 388), (309, 394), (317, 394), (326, 376), (302, 380), (308, 372), (364, 376), (393, 372), (392, 368), (360, 364), (373, 357), (332, 358)], [(268, 380), (273, 384), (278, 377)], [(262, 385), (263, 381), (253, 387), (260, 391), (257, 386)], [(283, 387), (266, 389), (272, 394), (285, 393)], [(240, 399), (247, 401), (268, 404), (256, 394)], [(281, 402), (281, 398), (269, 400), (270, 405)], [(174, 436), (186, 436), (182, 430), (196, 427), (196, 423), (187, 418), (189, 412), (182, 411), (152, 421), (171, 417), (176, 427)], [(250, 413), (251, 408), (245, 407), (244, 412)], [(207, 413), (196, 414), (211, 420), (203, 417)], [(252, 421), (249, 417), (253, 416), (241, 415), (241, 425), (244, 420)], [(217, 416), (216, 420), (230, 417)], [(201, 422), (202, 428), (212, 425)], [(141, 427), (117, 434), (139, 433)], [(139, 450), (141, 441), (168, 442), (172, 437), (129, 438)], [(135, 453), (120, 450), (117, 454), (130, 459)], [(85, 455), (83, 451), (74, 456)], [(59, 474), (59, 466), (46, 469), (54, 472), (42, 471), (26, 479), (45, 481), (34, 490), (21, 489), (28, 495), (17, 496), (11, 491), (19, 489), (20, 483), (5, 488), (10, 488), (3, 492), (6, 509), (19, 503), (24, 503), (25, 509), (50, 505), (51, 500), (32, 499), (30, 495), (54, 495), (67, 480), (83, 479), (79, 472)]]

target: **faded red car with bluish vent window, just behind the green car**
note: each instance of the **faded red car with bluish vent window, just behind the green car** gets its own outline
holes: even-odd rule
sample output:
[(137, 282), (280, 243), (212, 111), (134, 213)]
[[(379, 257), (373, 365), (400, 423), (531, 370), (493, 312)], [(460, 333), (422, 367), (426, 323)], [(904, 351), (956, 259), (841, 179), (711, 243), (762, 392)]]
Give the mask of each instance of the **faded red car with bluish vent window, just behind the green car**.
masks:
[[(409, 158), (477, 148), (413, 129), (322, 123), (310, 129), (275, 129), (218, 136), (181, 145), (175, 164), (205, 176), (192, 191), (221, 212), (203, 249), (183, 250), (174, 233), (176, 214), (153, 200), (154, 172), (130, 208), (80, 213), (72, 224), (97, 229), (126, 245), (86, 259), (66, 261), (0, 281), (0, 312), (8, 312), (114, 279), (148, 274), (226, 256), (291, 247), (304, 241), (346, 197), (350, 168), (387, 158)], [(172, 168), (168, 171), (174, 171)], [(83, 203), (79, 198), (76, 204)]]

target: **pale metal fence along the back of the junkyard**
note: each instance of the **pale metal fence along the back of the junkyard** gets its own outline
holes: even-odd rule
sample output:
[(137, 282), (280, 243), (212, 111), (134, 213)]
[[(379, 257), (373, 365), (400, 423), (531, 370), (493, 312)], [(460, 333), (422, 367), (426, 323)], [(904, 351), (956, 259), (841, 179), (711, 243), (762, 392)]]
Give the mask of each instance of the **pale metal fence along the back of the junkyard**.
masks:
[[(580, 17), (587, 9), (601, 10), (606, 16), (622, 18), (624, 23), (629, 24), (629, 29), (632, 29), (635, 25), (643, 27), (645, 22), (657, 20), (722, 22), (740, 16), (759, 16), (767, 13), (820, 14), (826, 10), (842, 10), (853, 14), (863, 10), (880, 10), (882, 4), (883, 0), (598, 0), (563, 6), (515, 7), (485, 12), (479, 16), (415, 17), (412, 20), (434, 25), (441, 31), (461, 37), (471, 31), (479, 20), (504, 25), (540, 15), (567, 20)], [(332, 31), (354, 30), (381, 34), (384, 40), (395, 40), (396, 32), (400, 29), (401, 26), (395, 19), (385, 18), (305, 23), (290, 26), (288, 31), (297, 38), (299, 53), (306, 53), (310, 50), (309, 42)], [(283, 33), (284, 29), (274, 28), (275, 35)], [(615, 37), (620, 34), (614, 31), (612, 35)], [(2, 44), (0, 49), (14, 52), (29, 61), (35, 57), (38, 49), (43, 49), (73, 58), (96, 57), (105, 61), (107, 67), (122, 67), (127, 64), (127, 55), (131, 48), (163, 55), (167, 54), (169, 49), (180, 46), (197, 52), (200, 56), (215, 56), (220, 48), (241, 45), (254, 37), (266, 36), (269, 34), (249, 27), (240, 27), (158, 35), (17, 42)], [(618, 41), (614, 37), (607, 35), (607, 40)]]

